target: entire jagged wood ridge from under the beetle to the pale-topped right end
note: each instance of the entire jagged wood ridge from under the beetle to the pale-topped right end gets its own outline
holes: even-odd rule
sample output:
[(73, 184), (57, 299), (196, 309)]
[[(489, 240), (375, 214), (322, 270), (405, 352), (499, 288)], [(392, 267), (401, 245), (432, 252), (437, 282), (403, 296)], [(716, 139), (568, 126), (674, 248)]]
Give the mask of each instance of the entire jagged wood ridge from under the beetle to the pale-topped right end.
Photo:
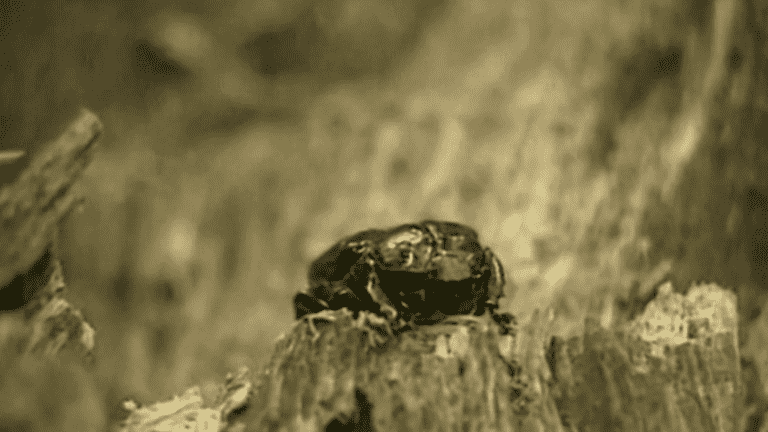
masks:
[(714, 285), (664, 288), (621, 329), (590, 324), (548, 353), (541, 315), (515, 337), (467, 322), (383, 347), (348, 312), (329, 316), (278, 343), (247, 430), (739, 430), (735, 296)]

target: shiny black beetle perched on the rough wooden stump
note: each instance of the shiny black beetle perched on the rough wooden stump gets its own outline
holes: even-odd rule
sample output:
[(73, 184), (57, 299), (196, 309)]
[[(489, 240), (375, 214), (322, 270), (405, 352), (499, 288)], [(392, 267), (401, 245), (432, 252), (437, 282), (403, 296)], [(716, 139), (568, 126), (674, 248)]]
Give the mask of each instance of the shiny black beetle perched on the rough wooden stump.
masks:
[(308, 279), (307, 292), (294, 297), (297, 319), (347, 308), (390, 330), (486, 311), (502, 329), (514, 320), (496, 313), (504, 295), (501, 262), (472, 228), (454, 222), (361, 231), (317, 258)]

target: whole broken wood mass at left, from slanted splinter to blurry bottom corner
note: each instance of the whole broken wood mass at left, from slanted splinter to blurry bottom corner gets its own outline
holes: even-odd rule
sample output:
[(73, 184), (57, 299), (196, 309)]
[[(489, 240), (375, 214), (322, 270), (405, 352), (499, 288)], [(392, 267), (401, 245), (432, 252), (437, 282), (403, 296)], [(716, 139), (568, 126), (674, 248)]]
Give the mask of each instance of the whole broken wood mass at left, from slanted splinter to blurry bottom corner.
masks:
[(54, 253), (59, 221), (80, 199), (72, 187), (100, 132), (98, 118), (82, 110), (0, 187), (2, 430), (102, 431), (107, 423), (89, 370), (95, 331), (64, 298)]

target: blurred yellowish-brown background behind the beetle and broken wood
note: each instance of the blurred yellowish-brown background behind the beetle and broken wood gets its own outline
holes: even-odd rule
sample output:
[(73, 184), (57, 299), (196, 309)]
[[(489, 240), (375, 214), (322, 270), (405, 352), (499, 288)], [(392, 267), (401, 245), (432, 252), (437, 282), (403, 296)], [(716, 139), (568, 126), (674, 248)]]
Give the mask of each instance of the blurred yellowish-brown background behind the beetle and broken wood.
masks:
[(564, 337), (663, 280), (735, 290), (762, 424), (765, 2), (3, 4), (0, 150), (34, 153), (81, 105), (105, 124), (58, 251), (97, 331), (71, 378), (93, 430), (125, 397), (259, 370), (318, 254), (424, 218), (474, 227), (502, 308), (551, 307)]

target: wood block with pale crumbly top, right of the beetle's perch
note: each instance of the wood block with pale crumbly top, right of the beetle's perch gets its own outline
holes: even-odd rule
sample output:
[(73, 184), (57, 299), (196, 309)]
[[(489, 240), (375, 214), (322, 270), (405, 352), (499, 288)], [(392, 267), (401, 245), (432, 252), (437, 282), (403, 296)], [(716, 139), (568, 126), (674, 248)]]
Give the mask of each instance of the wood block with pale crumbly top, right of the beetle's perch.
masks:
[(736, 296), (716, 285), (662, 286), (619, 331), (588, 321), (550, 352), (553, 392), (580, 431), (740, 431)]

